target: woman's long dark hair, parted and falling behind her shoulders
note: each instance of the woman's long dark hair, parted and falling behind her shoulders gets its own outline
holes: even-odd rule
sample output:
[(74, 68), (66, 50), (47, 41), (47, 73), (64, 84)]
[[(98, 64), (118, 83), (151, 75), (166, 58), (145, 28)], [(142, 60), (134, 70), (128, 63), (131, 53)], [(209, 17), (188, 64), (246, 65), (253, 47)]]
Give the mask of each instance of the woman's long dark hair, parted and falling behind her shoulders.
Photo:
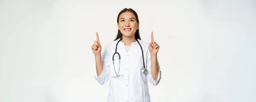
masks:
[[(124, 8), (122, 11), (119, 12), (119, 14), (118, 14), (118, 16), (117, 16), (117, 24), (119, 23), (119, 17), (120, 17), (120, 15), (121, 15), (122, 13), (124, 13), (125, 11), (130, 11), (130, 12), (132, 12), (132, 13), (135, 15), (135, 17), (136, 17), (137, 23), (139, 23), (139, 18), (138, 18), (137, 13), (136, 13), (133, 9), (131, 9), (131, 8)], [(140, 39), (140, 40), (141, 40), (139, 30), (140, 30), (140, 28), (138, 28), (138, 29), (136, 30), (136, 32), (135, 32), (135, 39)], [(117, 35), (116, 35), (116, 39), (115, 39), (115, 40), (117, 40), (117, 39), (119, 39), (119, 38), (122, 38), (122, 33), (121, 33), (121, 31), (118, 29)]]

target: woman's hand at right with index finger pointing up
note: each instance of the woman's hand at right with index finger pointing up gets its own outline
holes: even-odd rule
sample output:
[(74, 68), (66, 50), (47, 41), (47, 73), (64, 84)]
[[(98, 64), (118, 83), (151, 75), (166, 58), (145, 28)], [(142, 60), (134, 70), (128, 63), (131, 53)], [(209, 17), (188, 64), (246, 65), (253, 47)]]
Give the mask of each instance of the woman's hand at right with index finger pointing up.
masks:
[(160, 48), (160, 46), (157, 44), (157, 42), (154, 42), (153, 32), (151, 32), (151, 42), (148, 45), (150, 55), (156, 56), (159, 48)]

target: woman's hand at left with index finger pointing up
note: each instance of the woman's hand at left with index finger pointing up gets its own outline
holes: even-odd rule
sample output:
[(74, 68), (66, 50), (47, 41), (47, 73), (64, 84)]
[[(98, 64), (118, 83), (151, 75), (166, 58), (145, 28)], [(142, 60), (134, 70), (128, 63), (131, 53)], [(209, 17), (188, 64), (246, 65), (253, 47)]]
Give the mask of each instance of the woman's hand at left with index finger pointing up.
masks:
[(97, 32), (96, 32), (96, 39), (97, 40), (95, 40), (94, 44), (92, 45), (92, 50), (93, 50), (94, 55), (101, 55), (102, 47), (100, 45), (99, 35)]

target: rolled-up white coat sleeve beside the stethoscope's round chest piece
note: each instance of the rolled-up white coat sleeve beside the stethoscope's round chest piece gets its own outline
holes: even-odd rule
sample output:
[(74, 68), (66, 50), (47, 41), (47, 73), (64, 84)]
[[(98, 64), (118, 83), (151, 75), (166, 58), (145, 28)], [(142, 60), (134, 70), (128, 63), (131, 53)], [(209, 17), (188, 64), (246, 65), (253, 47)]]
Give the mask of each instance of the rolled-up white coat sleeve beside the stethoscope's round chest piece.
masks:
[(151, 84), (151, 85), (158, 85), (160, 80), (161, 80), (161, 77), (162, 77), (162, 72), (160, 70), (160, 65), (159, 65), (159, 62), (158, 62), (158, 59), (157, 59), (157, 64), (158, 64), (158, 68), (159, 68), (159, 72), (158, 72), (158, 77), (157, 77), (157, 80), (154, 80), (152, 74), (151, 74), (151, 56), (150, 56), (150, 52), (149, 50), (147, 50), (147, 59), (146, 59), (146, 68), (148, 70), (148, 73), (146, 74), (146, 78), (148, 79), (148, 82)]

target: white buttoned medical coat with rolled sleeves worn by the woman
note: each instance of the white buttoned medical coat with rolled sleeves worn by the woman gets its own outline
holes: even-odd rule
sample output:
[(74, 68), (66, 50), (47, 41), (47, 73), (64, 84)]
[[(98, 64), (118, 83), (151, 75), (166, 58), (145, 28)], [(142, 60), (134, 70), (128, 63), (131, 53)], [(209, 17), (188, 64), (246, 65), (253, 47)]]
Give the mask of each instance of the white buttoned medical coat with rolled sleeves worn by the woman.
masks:
[(120, 69), (118, 54), (114, 56), (114, 64), (117, 75), (121, 74), (121, 76), (116, 77), (112, 57), (115, 53), (116, 43), (118, 41), (119, 39), (106, 45), (102, 53), (103, 71), (99, 77), (97, 77), (95, 73), (94, 78), (101, 85), (104, 85), (108, 80), (110, 81), (107, 102), (151, 102), (148, 82), (150, 82), (151, 85), (157, 85), (161, 79), (161, 71), (158, 63), (159, 74), (157, 80), (154, 80), (151, 75), (151, 56), (148, 50), (149, 43), (138, 39), (143, 49), (145, 67), (148, 70), (147, 74), (142, 74), (141, 71), (143, 69), (143, 57), (139, 43), (132, 42), (129, 52), (126, 51), (124, 42), (118, 43), (117, 52), (120, 54), (121, 58)]

